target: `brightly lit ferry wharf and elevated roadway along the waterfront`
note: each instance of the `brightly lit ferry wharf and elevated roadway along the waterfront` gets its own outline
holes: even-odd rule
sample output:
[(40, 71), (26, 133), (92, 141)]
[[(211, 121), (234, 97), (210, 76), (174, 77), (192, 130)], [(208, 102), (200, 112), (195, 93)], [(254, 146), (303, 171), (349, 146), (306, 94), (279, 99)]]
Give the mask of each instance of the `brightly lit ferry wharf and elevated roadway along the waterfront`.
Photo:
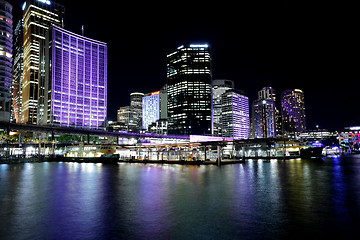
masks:
[[(262, 138), (262, 139), (241, 139), (233, 140), (211, 136), (171, 136), (157, 135), (150, 133), (128, 133), (128, 132), (109, 132), (105, 130), (81, 129), (71, 127), (56, 126), (36, 126), (14, 123), (0, 123), (10, 131), (36, 132), (47, 134), (54, 139), (48, 143), (42, 143), (41, 137), (38, 142), (22, 143), (19, 137), (18, 144), (6, 144), (6, 155), (1, 157), (0, 163), (5, 162), (33, 162), (36, 160), (26, 160), (25, 157), (38, 161), (57, 161), (61, 156), (54, 156), (56, 149), (67, 146), (76, 147), (73, 142), (68, 144), (55, 143), (55, 137), (59, 134), (73, 134), (80, 136), (78, 144), (89, 146), (90, 136), (112, 137), (113, 145), (116, 146), (118, 162), (141, 162), (141, 163), (179, 163), (179, 164), (230, 164), (241, 163), (246, 159), (288, 159), (300, 157), (300, 151), (306, 148), (302, 143), (288, 138)], [(85, 138), (83, 138), (85, 136)], [(87, 138), (86, 138), (87, 136)], [(115, 140), (114, 138), (115, 137)], [(119, 144), (119, 138), (136, 139), (133, 144)], [(35, 139), (35, 138), (34, 138)], [(86, 139), (86, 140), (85, 140)], [(110, 139), (110, 138), (108, 138)], [(163, 141), (168, 139), (169, 141)], [(109, 144), (109, 142), (107, 143)], [(5, 147), (5, 145), (3, 145)], [(31, 154), (25, 154), (25, 149), (31, 148)], [(45, 150), (46, 149), (46, 150)], [(74, 148), (76, 149), (76, 148)], [(106, 158), (98, 159), (99, 154), (85, 156), (79, 149), (73, 151), (74, 154), (67, 157), (69, 161), (77, 162), (104, 162)], [(114, 152), (115, 153), (115, 152)], [(61, 155), (64, 155), (63, 152)], [(14, 159), (13, 155), (18, 155), (19, 159)], [(46, 156), (46, 157), (45, 157)], [(80, 158), (78, 158), (80, 157)], [(84, 159), (87, 157), (87, 159)], [(90, 157), (90, 158), (89, 158)], [(23, 159), (24, 158), (24, 159)], [(63, 161), (63, 160), (59, 160)]]

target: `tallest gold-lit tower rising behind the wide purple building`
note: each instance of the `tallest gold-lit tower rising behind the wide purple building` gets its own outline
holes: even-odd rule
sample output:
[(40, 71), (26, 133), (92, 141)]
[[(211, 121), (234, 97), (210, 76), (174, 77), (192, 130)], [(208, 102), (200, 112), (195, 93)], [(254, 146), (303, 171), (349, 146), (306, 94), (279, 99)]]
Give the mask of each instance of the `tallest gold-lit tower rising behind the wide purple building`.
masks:
[(37, 124), (40, 79), (40, 42), (51, 25), (63, 26), (65, 8), (50, 0), (26, 0), (21, 122)]

